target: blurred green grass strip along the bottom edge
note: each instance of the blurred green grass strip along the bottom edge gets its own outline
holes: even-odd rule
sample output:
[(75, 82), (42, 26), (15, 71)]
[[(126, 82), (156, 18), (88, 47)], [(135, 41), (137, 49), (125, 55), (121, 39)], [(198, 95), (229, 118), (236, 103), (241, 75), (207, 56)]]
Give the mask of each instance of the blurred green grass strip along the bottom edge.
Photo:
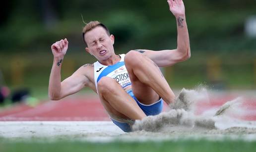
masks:
[(256, 142), (178, 140), (158, 142), (21, 142), (0, 140), (0, 152), (255, 152)]

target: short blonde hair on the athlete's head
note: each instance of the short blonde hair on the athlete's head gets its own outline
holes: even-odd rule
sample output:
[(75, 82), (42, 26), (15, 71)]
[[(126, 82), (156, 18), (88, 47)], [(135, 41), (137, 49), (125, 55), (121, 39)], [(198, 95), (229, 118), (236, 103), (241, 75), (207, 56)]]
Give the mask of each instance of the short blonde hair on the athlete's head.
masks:
[(86, 32), (88, 32), (98, 26), (103, 27), (105, 29), (105, 31), (107, 32), (108, 36), (110, 36), (109, 29), (104, 24), (102, 24), (99, 21), (90, 21), (83, 27), (83, 42), (85, 43), (86, 47), (87, 47), (87, 43), (85, 42), (84, 35), (86, 34)]

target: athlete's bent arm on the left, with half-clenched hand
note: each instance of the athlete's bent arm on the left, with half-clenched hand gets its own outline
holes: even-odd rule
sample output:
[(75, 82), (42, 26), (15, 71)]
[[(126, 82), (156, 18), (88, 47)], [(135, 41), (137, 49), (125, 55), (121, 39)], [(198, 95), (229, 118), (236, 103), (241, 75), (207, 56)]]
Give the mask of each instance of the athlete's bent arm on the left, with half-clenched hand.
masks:
[(51, 47), (54, 55), (48, 88), (48, 94), (51, 100), (60, 100), (68, 95), (74, 94), (89, 82), (88, 78), (82, 74), (81, 68), (61, 82), (61, 67), (67, 48), (68, 41), (66, 39), (54, 43)]

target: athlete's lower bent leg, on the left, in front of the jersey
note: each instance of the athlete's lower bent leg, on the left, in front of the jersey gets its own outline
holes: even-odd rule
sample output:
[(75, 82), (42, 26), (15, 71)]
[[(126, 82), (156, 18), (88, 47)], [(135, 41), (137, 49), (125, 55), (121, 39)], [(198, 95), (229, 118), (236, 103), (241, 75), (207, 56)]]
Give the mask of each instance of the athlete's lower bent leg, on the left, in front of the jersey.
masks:
[(102, 77), (98, 82), (100, 100), (110, 115), (132, 120), (146, 117), (136, 101), (113, 78)]

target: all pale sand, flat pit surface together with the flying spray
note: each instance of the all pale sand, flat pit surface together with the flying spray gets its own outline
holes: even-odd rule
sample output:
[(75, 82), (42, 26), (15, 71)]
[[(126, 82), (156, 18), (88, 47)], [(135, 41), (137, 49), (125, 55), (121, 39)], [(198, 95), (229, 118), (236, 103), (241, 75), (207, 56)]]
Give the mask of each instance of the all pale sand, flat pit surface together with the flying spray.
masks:
[(207, 90), (183, 89), (170, 110), (136, 121), (131, 133), (123, 132), (111, 121), (0, 121), (0, 137), (91, 142), (188, 138), (256, 141), (256, 121), (244, 119), (256, 110), (244, 106), (242, 98), (197, 113), (196, 105), (201, 102), (209, 102)]

